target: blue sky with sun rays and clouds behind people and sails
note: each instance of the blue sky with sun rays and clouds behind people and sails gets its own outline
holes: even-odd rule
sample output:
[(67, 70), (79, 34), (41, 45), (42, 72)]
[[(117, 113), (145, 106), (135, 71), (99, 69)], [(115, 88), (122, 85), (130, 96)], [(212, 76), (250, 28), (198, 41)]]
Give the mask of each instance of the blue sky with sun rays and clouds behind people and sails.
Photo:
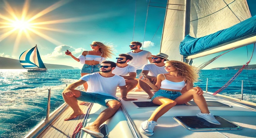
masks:
[[(161, 3), (166, 1), (151, 0), (147, 17), (149, 0), (0, 0), (0, 56), (18, 59), (22, 52), (37, 44), (44, 63), (81, 68), (79, 62), (64, 54), (66, 49), (78, 56), (83, 50), (90, 50), (92, 41), (101, 41), (112, 45), (118, 56), (130, 51), (128, 45), (131, 41), (143, 40), (143, 49), (157, 54), (165, 15), (165, 8), (161, 7), (166, 7)], [(250, 3), (253, 0), (248, 0)], [(253, 10), (252, 16), (256, 13)], [(31, 19), (33, 28), (30, 26), (21, 32), (20, 29), (11, 32), (15, 26), (8, 23), (15, 21), (15, 17), (17, 20), (24, 18), (24, 21)], [(252, 47), (248, 49), (248, 56), (246, 47), (242, 47), (205, 69), (243, 65), (251, 55)], [(198, 66), (216, 55), (195, 59), (194, 65)], [(236, 62), (230, 62), (229, 56)], [(115, 57), (109, 60), (116, 61)]]

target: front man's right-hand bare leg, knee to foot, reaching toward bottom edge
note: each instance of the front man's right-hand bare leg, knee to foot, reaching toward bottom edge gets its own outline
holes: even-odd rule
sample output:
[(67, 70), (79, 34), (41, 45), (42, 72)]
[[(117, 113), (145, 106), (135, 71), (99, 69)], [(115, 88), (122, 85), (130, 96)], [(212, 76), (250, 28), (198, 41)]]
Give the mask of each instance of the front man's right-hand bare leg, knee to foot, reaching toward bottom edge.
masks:
[(102, 123), (111, 118), (117, 110), (120, 108), (121, 103), (116, 100), (111, 100), (107, 102), (108, 108), (100, 113), (97, 119), (92, 123), (92, 125), (85, 127), (86, 129), (94, 132), (100, 132), (99, 128)]

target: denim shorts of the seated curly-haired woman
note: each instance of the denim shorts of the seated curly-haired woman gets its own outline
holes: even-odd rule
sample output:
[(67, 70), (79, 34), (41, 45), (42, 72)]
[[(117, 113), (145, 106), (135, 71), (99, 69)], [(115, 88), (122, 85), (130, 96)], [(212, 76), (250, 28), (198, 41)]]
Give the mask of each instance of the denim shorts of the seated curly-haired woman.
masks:
[(167, 90), (158, 90), (154, 93), (154, 96), (151, 98), (151, 101), (153, 101), (154, 98), (156, 97), (166, 97), (171, 100), (175, 100), (177, 97), (181, 96), (180, 91), (167, 91)]

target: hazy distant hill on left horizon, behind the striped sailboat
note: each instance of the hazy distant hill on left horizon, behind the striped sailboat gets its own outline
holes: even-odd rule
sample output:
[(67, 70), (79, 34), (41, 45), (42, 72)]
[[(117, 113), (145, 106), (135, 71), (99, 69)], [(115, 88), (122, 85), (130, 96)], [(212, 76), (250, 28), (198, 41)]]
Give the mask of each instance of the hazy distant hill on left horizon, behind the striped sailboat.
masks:
[[(67, 65), (56, 65), (56, 64), (47, 64), (45, 63), (47, 69), (74, 69), (71, 66)], [(0, 57), (0, 69), (24, 69), (19, 62), (12, 58)]]

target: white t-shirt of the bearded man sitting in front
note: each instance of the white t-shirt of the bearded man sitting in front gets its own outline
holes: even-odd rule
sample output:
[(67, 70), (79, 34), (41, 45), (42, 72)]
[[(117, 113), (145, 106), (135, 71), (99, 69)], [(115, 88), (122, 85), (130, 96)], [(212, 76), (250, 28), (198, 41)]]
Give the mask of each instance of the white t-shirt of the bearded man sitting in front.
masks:
[(115, 75), (109, 78), (103, 77), (100, 73), (91, 73), (80, 78), (87, 81), (88, 92), (116, 97), (117, 86), (125, 86), (123, 77)]

